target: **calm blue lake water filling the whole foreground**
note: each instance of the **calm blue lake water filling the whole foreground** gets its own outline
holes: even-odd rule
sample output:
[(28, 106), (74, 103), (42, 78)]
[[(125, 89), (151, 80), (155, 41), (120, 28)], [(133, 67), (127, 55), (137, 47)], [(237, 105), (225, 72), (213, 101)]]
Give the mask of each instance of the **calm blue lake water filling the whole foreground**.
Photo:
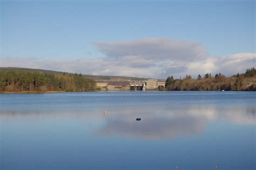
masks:
[(0, 97), (0, 169), (256, 169), (255, 92)]

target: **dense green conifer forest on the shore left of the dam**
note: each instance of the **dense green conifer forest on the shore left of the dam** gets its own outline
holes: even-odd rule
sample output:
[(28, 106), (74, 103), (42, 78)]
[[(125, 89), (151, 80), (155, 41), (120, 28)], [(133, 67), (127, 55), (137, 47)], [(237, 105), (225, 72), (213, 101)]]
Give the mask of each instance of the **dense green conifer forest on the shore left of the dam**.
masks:
[(1, 71), (0, 92), (82, 92), (95, 90), (95, 81), (82, 74)]

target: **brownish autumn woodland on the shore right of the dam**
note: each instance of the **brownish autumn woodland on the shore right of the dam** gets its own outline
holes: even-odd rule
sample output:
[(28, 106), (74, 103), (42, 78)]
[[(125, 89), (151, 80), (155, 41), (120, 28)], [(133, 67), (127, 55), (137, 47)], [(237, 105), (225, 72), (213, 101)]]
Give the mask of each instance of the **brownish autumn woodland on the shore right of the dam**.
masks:
[(184, 91), (255, 91), (256, 90), (256, 70), (247, 69), (243, 74), (236, 74), (226, 77), (221, 73), (212, 76), (206, 73), (204, 77), (199, 74), (196, 79), (186, 75), (183, 79), (174, 79), (173, 76), (167, 77), (165, 87), (161, 91), (184, 90)]

